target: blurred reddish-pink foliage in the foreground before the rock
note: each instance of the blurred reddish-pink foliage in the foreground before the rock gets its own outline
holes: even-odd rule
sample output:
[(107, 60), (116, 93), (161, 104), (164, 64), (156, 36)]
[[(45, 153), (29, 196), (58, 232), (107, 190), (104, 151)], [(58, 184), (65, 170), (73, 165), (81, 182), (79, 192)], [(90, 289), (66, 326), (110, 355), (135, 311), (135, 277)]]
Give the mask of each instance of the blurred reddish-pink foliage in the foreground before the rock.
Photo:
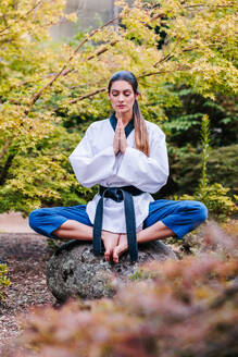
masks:
[(211, 224), (203, 247), (145, 266), (113, 299), (35, 310), (24, 357), (237, 356), (238, 241)]

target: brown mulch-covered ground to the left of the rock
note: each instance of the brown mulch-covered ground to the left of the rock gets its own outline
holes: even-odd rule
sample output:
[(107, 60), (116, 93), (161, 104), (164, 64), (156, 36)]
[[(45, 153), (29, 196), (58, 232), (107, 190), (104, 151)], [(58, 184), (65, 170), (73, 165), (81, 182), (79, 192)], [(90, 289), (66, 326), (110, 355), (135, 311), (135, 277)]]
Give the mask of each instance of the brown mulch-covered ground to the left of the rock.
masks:
[(46, 284), (46, 261), (52, 253), (47, 238), (32, 233), (0, 233), (0, 260), (9, 268), (11, 285), (0, 303), (0, 348), (21, 334), (18, 313), (33, 306), (53, 305)]

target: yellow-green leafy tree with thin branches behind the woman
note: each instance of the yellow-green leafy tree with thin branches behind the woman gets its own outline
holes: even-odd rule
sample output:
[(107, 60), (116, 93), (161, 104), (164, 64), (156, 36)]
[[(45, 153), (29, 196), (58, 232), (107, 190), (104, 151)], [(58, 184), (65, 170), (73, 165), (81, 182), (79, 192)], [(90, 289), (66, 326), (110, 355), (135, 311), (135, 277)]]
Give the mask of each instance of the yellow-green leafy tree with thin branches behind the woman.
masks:
[(154, 122), (180, 104), (171, 84), (209, 98), (236, 94), (235, 1), (116, 4), (117, 19), (79, 42), (52, 46), (49, 27), (65, 17), (63, 1), (1, 2), (0, 211), (72, 205), (90, 195), (67, 157), (87, 125), (109, 115), (107, 83), (117, 70), (139, 78), (143, 115)]

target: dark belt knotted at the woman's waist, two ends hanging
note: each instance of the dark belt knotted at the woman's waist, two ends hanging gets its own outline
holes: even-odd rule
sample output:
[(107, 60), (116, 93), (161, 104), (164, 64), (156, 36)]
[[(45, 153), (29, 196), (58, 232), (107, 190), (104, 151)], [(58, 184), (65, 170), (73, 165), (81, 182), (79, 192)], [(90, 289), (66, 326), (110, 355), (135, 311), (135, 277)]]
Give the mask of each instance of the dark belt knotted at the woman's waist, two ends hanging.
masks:
[(111, 198), (116, 202), (124, 200), (125, 218), (126, 218), (126, 232), (128, 250), (131, 261), (136, 261), (138, 258), (138, 248), (136, 239), (136, 218), (133, 196), (141, 195), (143, 192), (134, 186), (123, 187), (103, 187), (100, 186), (99, 194), (101, 196), (98, 201), (95, 224), (93, 224), (93, 253), (95, 255), (101, 254), (101, 231), (102, 231), (102, 218), (103, 218), (103, 198)]

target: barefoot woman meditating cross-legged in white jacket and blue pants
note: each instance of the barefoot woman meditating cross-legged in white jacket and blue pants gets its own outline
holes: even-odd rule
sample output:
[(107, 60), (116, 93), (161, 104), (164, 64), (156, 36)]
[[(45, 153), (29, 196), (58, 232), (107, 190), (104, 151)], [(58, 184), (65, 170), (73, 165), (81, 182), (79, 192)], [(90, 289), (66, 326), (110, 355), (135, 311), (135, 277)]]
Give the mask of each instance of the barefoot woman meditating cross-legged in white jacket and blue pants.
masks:
[(137, 260), (137, 243), (184, 235), (205, 221), (198, 201), (154, 201), (150, 193), (168, 176), (165, 135), (145, 121), (138, 106), (133, 73), (116, 72), (109, 83), (114, 113), (92, 123), (70, 156), (78, 182), (100, 192), (87, 206), (42, 208), (29, 216), (29, 225), (49, 237), (93, 241), (95, 254), (117, 263), (129, 249)]

